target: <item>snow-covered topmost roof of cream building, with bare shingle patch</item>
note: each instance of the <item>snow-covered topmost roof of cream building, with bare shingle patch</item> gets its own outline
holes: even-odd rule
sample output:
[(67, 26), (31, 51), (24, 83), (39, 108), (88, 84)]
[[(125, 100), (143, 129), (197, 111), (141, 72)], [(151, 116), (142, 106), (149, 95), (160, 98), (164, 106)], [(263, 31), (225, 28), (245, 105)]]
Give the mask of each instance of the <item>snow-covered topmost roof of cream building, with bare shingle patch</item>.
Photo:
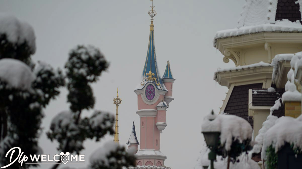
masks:
[(301, 32), (301, 0), (246, 0), (235, 29), (218, 31), (217, 39), (258, 32)]

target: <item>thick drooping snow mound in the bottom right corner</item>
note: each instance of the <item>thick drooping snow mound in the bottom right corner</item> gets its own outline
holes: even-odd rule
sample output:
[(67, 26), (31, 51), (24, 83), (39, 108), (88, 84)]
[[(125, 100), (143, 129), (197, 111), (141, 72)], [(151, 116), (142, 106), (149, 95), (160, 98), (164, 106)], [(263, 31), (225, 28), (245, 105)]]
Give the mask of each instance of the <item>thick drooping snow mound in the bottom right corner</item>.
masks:
[(266, 160), (266, 149), (272, 145), (277, 153), (285, 143), (293, 144), (293, 149), (302, 149), (302, 116), (292, 118), (282, 116), (275, 121), (263, 136), (261, 158)]

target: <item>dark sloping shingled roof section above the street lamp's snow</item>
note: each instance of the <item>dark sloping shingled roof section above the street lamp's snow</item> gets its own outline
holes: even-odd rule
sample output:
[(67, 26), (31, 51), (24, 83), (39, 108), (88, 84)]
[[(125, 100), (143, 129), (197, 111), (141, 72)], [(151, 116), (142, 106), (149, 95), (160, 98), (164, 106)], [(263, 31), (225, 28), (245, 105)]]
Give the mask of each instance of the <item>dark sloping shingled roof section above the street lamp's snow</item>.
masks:
[(224, 112), (246, 119), (253, 127), (253, 119), (248, 115), (249, 89), (262, 88), (262, 83), (234, 86)]

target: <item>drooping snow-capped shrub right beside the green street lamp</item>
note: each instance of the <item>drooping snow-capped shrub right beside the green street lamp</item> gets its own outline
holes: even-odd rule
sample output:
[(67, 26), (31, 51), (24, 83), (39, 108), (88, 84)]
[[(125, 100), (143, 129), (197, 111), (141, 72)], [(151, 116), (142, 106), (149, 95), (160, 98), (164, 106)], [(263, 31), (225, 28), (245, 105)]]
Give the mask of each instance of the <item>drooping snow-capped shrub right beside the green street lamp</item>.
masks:
[(236, 162), (243, 152), (252, 149), (252, 126), (245, 119), (236, 115), (212, 113), (202, 123), (202, 131), (219, 131), (220, 140), (215, 152), (223, 158)]

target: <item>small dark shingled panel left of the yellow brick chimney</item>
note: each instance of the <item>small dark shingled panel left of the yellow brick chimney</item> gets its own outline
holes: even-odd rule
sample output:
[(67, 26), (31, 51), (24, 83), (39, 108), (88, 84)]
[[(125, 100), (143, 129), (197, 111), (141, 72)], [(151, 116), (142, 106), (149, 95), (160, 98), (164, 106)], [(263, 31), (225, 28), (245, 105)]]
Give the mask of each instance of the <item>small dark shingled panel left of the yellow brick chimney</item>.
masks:
[(252, 96), (253, 106), (274, 106), (275, 101), (280, 98), (278, 91), (268, 92), (267, 89), (253, 89)]

